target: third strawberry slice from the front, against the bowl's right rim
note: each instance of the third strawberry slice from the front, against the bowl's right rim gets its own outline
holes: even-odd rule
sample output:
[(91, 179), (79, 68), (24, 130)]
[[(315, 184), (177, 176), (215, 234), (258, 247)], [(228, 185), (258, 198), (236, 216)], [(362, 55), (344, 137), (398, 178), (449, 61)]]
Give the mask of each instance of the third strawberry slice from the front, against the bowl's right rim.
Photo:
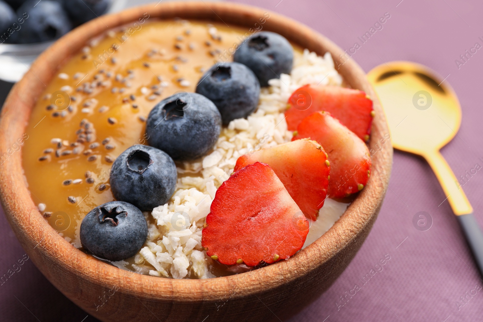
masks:
[(302, 138), (316, 140), (329, 155), (330, 197), (344, 197), (364, 188), (370, 174), (369, 149), (330, 113), (315, 112), (303, 119), (292, 140)]

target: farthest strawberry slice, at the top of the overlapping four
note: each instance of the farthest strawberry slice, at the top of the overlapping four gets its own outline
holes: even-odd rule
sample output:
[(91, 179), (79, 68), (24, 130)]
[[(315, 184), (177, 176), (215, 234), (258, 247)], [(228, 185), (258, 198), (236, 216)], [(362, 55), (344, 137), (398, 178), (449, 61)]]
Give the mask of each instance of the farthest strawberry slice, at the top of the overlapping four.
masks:
[(288, 129), (295, 131), (307, 116), (327, 111), (364, 141), (369, 140), (374, 110), (366, 93), (337, 86), (305, 85), (288, 99), (285, 111)]

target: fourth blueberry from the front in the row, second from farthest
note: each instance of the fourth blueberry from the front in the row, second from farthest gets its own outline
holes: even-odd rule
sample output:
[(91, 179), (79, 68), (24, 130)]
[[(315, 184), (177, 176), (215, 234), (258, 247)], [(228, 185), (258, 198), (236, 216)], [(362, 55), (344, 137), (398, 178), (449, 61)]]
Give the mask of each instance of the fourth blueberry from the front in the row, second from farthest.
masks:
[(211, 99), (223, 124), (255, 111), (260, 83), (252, 70), (239, 63), (213, 65), (200, 79), (196, 92)]

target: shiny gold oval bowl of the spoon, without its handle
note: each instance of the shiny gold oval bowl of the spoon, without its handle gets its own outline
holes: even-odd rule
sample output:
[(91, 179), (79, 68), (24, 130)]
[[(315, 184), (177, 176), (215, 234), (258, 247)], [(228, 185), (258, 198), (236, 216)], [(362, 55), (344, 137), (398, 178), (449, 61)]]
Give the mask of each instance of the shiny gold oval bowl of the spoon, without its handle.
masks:
[(396, 61), (370, 71), (384, 104), (393, 146), (425, 155), (451, 141), (461, 124), (461, 107), (453, 88), (427, 67)]

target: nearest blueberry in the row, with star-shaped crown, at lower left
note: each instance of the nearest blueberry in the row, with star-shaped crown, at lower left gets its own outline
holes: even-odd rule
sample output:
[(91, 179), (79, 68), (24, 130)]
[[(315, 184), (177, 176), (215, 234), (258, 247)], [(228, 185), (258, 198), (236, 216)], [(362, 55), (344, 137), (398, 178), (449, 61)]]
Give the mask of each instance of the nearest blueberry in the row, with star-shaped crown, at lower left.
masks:
[(141, 210), (123, 201), (106, 202), (94, 208), (81, 223), (82, 245), (110, 261), (135, 255), (147, 236), (148, 225)]

